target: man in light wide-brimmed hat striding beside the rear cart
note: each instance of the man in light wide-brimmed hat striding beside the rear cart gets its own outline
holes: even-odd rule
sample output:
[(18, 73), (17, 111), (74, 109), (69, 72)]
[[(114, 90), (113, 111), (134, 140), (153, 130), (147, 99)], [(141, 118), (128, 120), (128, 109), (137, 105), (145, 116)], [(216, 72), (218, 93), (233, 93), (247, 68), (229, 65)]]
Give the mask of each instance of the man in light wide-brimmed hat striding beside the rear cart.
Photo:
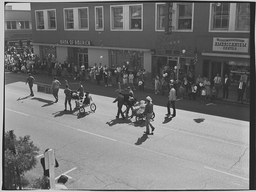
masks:
[(150, 123), (150, 119), (153, 116), (153, 103), (152, 103), (152, 99), (151, 97), (147, 96), (146, 97), (146, 106), (145, 106), (145, 125), (146, 125), (146, 131), (144, 131), (144, 133), (146, 134), (150, 134), (150, 127), (152, 129), (152, 132), (155, 130), (155, 128), (153, 127), (153, 125)]

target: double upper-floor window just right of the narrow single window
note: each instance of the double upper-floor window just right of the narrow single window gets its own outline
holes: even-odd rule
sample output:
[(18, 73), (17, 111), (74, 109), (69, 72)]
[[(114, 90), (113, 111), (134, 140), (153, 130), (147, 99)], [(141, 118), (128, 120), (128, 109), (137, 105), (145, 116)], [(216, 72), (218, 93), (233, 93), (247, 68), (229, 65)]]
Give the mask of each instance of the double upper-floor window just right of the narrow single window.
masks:
[(142, 5), (111, 6), (111, 30), (142, 30)]

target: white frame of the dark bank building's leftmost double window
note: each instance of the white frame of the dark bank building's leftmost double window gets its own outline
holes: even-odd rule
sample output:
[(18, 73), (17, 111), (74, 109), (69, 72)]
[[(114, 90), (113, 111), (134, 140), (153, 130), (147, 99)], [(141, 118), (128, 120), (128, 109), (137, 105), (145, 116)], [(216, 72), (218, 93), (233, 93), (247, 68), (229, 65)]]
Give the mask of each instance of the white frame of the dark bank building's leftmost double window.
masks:
[[(54, 11), (55, 13), (55, 26), (56, 28), (50, 28), (50, 18), (48, 16), (48, 11)], [(44, 29), (38, 29), (38, 17), (37, 12), (42, 12), (44, 17)], [(37, 31), (56, 31), (57, 30), (57, 18), (56, 18), (56, 9), (44, 9), (44, 10), (35, 10), (35, 23), (36, 23), (36, 30)]]

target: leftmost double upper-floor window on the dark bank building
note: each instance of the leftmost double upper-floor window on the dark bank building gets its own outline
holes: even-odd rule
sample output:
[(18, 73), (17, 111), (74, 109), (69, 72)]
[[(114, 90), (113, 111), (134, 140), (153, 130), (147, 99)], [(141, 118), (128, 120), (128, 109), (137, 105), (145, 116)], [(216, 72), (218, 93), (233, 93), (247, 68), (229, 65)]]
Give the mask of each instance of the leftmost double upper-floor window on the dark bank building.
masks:
[(37, 30), (56, 30), (55, 10), (40, 10), (35, 13)]

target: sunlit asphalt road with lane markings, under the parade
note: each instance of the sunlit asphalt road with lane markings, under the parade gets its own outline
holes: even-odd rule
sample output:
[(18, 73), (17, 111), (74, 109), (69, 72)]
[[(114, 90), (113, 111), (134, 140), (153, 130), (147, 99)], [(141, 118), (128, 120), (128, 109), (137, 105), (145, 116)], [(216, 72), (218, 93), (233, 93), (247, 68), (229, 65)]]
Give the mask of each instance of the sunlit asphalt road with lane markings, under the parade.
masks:
[[(138, 100), (151, 95), (155, 104), (156, 129), (145, 135), (144, 122), (115, 119), (116, 87), (86, 84), (97, 109), (87, 107), (82, 115), (63, 111), (63, 89), (58, 103), (53, 95), (36, 92), (36, 85), (35, 97), (28, 96), (26, 79), (24, 74), (5, 76), (5, 131), (30, 135), (40, 154), (55, 149), (55, 177), (68, 172), (69, 189), (249, 189), (248, 107), (180, 100), (177, 116), (170, 118), (164, 115), (167, 96), (136, 92)], [(73, 90), (78, 87), (69, 83)], [(42, 176), (39, 159), (27, 177)]]

